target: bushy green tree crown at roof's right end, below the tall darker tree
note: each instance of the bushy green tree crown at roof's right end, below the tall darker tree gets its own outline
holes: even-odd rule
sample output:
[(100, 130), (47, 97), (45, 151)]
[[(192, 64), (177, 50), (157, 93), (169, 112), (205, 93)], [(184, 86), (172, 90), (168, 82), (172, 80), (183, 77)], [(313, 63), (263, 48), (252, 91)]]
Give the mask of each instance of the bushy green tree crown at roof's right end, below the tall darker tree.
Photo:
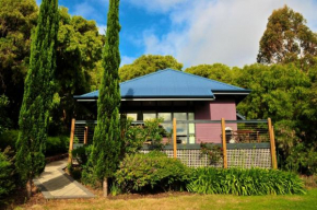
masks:
[(238, 106), (238, 110), (250, 119), (294, 119), (310, 88), (307, 74), (294, 65), (251, 65), (235, 73), (236, 84), (253, 90)]

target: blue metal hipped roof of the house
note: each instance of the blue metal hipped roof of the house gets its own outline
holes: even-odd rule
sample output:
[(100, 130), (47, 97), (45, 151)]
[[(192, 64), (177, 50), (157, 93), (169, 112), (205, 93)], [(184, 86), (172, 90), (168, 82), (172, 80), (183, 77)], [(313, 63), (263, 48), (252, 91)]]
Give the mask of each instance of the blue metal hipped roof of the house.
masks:
[[(183, 71), (166, 69), (122, 82), (120, 92), (122, 98), (213, 98), (213, 92), (248, 93), (250, 91)], [(97, 96), (98, 91), (94, 91), (75, 96), (75, 98)]]

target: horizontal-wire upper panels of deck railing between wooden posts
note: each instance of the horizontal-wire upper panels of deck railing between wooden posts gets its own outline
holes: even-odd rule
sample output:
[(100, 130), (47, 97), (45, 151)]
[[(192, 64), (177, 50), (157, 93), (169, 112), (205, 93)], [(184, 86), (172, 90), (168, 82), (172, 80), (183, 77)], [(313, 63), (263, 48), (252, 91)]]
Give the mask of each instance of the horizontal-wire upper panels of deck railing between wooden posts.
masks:
[[(96, 124), (96, 120), (77, 120), (74, 142), (91, 142)], [(132, 125), (144, 125), (144, 121), (132, 121)], [(172, 143), (173, 121), (164, 121), (161, 126), (166, 130), (163, 140)], [(268, 120), (225, 120), (225, 136), (227, 143), (269, 142)], [(176, 138), (178, 144), (222, 143), (221, 120), (176, 119)]]

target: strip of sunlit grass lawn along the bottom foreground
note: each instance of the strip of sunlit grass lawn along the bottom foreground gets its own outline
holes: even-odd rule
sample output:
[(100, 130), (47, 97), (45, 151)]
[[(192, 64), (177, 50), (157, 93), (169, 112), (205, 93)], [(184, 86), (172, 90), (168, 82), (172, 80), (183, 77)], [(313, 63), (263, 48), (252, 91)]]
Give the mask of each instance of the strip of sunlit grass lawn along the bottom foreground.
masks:
[(16, 209), (317, 209), (317, 188), (304, 196), (168, 195), (164, 198), (49, 200)]

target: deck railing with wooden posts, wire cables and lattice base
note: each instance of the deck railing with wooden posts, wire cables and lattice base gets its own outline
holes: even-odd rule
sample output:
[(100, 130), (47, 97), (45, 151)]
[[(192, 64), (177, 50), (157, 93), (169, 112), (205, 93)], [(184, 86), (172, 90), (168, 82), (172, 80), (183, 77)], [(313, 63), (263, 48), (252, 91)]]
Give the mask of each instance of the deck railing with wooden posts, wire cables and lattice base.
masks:
[[(73, 120), (70, 149), (92, 142), (96, 124), (96, 120)], [(133, 121), (132, 125), (144, 125), (144, 121)], [(164, 121), (161, 126), (166, 131), (163, 136), (163, 142), (166, 143), (163, 151), (171, 158), (180, 159), (189, 166), (207, 165), (207, 158), (202, 160), (200, 156), (200, 144), (214, 143), (223, 148), (221, 164), (223, 167), (246, 165), (277, 168), (274, 133), (270, 119), (176, 119), (174, 124)], [(148, 142), (142, 151), (146, 153), (150, 149)]]

